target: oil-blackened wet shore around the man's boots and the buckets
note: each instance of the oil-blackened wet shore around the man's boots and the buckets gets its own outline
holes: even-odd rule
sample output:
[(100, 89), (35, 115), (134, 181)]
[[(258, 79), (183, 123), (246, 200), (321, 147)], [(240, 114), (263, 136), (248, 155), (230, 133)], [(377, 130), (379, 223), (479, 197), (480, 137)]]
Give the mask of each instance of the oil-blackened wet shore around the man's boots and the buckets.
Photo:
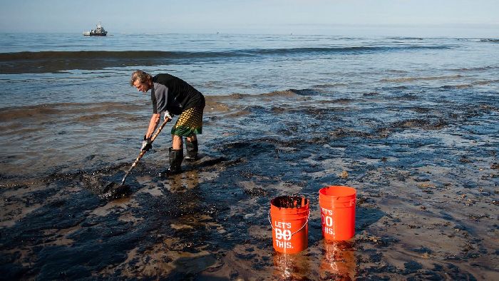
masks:
[[(135, 136), (148, 120), (140, 106), (146, 104), (130, 105), (119, 125), (104, 114), (125, 112), (114, 103), (0, 115), (5, 134), (41, 138), (26, 153), (2, 158), (10, 159), (2, 163), (0, 190), (4, 278), (499, 278), (493, 95), (210, 97), (200, 160), (158, 178), (168, 151), (164, 134), (128, 177), (128, 194), (103, 200), (101, 183), (119, 181), (138, 154)], [(57, 107), (63, 110), (54, 114)], [(53, 123), (64, 129), (46, 130)], [(321, 237), (318, 191), (328, 185), (357, 190), (350, 241)], [(298, 255), (272, 248), (269, 201), (287, 194), (307, 196), (312, 210), (309, 248)]]

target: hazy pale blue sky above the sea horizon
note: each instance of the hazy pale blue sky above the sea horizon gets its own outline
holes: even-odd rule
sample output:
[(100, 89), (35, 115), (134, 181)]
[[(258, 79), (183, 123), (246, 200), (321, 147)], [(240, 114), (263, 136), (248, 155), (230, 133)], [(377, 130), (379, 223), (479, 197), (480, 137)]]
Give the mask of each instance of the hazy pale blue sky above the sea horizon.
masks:
[(0, 0), (0, 32), (499, 37), (499, 0)]

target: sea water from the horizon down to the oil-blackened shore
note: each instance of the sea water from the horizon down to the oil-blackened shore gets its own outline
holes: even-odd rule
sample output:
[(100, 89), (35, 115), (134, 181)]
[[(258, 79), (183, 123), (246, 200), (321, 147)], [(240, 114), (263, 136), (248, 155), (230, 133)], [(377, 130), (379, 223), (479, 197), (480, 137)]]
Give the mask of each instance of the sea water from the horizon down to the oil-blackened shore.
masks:
[[(106, 150), (103, 143), (140, 136), (135, 131), (113, 132), (114, 126), (127, 126), (123, 120), (140, 118), (144, 127), (147, 123), (148, 97), (128, 82), (135, 69), (171, 73), (205, 96), (258, 96), (294, 89), (306, 93), (311, 105), (316, 100), (356, 99), (369, 93), (377, 93), (384, 102), (394, 96), (418, 96), (417, 106), (441, 106), (443, 101), (458, 108), (498, 103), (499, 44), (495, 40), (1, 34), (0, 45), (3, 173), (15, 172), (19, 165), (26, 167), (25, 173), (43, 172), (44, 168), (36, 168), (38, 160), (27, 155), (53, 155), (48, 151), (55, 149), (63, 155), (72, 150), (82, 158), (84, 152), (77, 152), (83, 140), (96, 143), (94, 150)], [(272, 99), (264, 104), (281, 106)], [(364, 105), (387, 114), (383, 106), (369, 101), (357, 106)], [(408, 113), (401, 108), (398, 115)], [(86, 131), (81, 128), (85, 123), (103, 131)], [(59, 165), (73, 165), (69, 158), (59, 159)]]

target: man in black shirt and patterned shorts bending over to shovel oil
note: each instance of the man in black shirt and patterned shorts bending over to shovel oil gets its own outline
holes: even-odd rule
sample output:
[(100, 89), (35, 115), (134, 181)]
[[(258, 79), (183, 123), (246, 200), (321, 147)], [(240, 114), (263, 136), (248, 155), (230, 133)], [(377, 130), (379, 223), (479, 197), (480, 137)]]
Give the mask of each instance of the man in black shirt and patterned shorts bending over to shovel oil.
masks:
[(185, 137), (186, 160), (197, 159), (197, 134), (202, 133), (202, 111), (205, 108), (205, 97), (182, 79), (170, 74), (151, 76), (144, 71), (132, 73), (130, 85), (138, 91), (151, 91), (153, 101), (153, 116), (150, 118), (148, 131), (145, 133), (141, 150), (152, 147), (150, 138), (160, 123), (161, 114), (165, 114), (165, 121), (179, 115), (175, 126), (172, 127), (172, 147), (169, 149), (170, 166), (160, 173), (168, 176), (180, 173), (182, 164), (183, 141)]

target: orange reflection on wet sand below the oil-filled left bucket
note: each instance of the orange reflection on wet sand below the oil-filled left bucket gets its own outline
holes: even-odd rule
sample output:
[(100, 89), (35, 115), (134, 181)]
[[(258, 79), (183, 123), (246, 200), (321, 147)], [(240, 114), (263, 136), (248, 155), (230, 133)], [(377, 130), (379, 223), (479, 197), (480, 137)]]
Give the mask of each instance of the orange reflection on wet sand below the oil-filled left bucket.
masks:
[(274, 276), (279, 280), (307, 280), (309, 260), (302, 254), (274, 253)]

